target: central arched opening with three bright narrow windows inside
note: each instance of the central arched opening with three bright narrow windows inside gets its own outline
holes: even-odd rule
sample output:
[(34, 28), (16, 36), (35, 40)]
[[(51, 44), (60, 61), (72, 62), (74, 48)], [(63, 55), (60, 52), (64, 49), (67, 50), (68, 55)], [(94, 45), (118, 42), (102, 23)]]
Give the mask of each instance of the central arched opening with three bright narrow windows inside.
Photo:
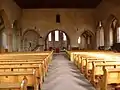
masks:
[(50, 31), (45, 38), (45, 49), (51, 50), (58, 48), (59, 50), (68, 49), (70, 39), (66, 32), (56, 29)]

